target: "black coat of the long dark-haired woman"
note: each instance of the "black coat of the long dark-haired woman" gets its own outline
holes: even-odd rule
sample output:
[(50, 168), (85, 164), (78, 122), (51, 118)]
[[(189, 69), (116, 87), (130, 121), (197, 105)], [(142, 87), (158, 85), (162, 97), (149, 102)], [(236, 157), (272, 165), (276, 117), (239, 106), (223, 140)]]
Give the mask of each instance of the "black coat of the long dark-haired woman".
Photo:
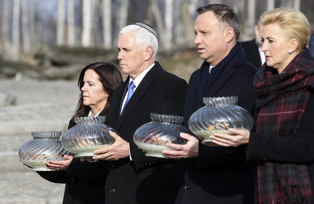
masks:
[[(99, 116), (106, 115), (104, 111)], [(72, 120), (68, 129), (76, 123)], [(65, 183), (63, 196), (64, 204), (93, 204), (104, 203), (106, 176), (103, 175), (106, 166), (89, 164), (73, 158), (66, 170), (62, 171), (36, 171), (42, 178), (53, 183)]]

